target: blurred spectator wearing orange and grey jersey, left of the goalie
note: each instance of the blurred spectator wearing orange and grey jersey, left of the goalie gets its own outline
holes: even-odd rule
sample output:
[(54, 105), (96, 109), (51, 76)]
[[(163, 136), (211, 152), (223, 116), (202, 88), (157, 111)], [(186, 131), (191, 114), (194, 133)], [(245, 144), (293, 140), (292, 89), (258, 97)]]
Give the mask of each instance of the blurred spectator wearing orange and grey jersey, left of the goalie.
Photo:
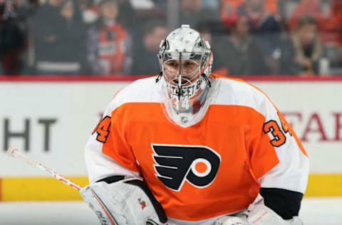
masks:
[(100, 19), (88, 31), (88, 64), (93, 74), (130, 74), (132, 41), (128, 31), (118, 23), (118, 1), (100, 3)]

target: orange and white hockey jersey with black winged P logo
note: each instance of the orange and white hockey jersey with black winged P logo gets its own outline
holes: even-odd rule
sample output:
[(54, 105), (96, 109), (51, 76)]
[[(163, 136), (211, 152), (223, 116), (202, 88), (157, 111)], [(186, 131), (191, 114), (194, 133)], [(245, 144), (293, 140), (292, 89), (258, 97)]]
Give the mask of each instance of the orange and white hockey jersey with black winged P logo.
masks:
[(137, 80), (115, 95), (86, 145), (90, 182), (142, 177), (176, 224), (214, 224), (246, 209), (260, 187), (304, 193), (309, 159), (269, 98), (243, 80), (212, 74), (202, 120), (165, 116), (161, 80)]

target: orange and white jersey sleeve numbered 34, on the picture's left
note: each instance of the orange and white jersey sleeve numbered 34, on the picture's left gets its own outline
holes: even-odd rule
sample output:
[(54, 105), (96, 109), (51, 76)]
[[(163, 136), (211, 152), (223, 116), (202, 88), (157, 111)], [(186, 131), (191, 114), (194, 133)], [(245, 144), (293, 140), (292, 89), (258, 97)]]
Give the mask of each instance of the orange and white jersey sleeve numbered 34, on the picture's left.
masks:
[(125, 118), (113, 100), (90, 135), (85, 148), (89, 181), (112, 176), (140, 177), (138, 165), (127, 140)]

